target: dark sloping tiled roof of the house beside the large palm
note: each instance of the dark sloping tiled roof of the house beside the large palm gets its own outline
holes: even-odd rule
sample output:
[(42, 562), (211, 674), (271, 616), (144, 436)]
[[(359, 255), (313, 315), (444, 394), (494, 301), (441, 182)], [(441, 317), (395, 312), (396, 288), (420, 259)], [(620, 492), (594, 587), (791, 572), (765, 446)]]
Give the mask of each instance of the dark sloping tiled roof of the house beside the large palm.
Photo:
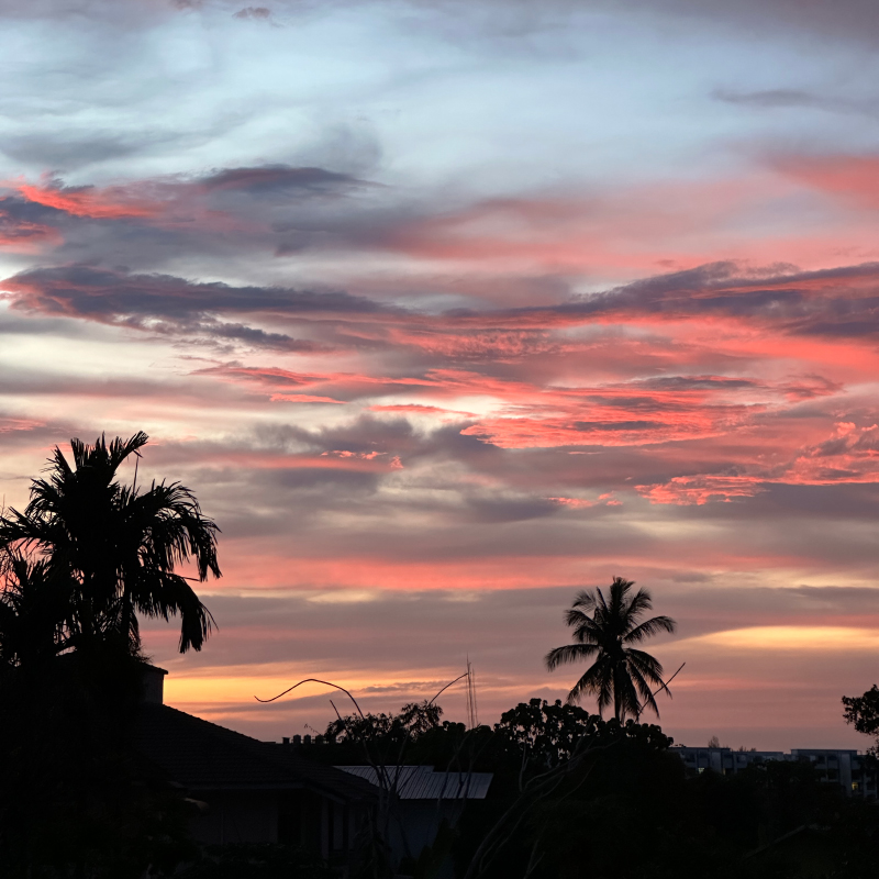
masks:
[(371, 799), (367, 780), (321, 766), (169, 705), (138, 706), (135, 748), (188, 790), (308, 788), (343, 801)]

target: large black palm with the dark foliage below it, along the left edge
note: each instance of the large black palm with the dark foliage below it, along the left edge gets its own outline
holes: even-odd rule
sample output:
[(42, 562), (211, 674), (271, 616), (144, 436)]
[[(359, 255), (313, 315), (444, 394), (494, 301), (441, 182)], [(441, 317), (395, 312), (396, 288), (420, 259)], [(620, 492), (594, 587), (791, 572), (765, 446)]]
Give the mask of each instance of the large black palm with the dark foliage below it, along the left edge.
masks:
[(211, 616), (176, 569), (220, 576), (216, 526), (179, 483), (123, 486), (146, 435), (56, 448), (24, 512), (0, 516), (0, 876), (140, 879), (197, 855), (188, 805), (131, 747), (137, 613)]

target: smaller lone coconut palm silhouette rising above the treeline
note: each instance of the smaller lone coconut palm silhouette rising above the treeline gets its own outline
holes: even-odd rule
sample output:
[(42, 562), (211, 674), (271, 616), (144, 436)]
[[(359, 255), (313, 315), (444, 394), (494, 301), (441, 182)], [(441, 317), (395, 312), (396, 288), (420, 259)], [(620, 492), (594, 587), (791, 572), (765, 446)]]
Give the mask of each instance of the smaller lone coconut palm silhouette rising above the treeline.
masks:
[(653, 608), (653, 600), (646, 589), (630, 594), (634, 585), (614, 577), (609, 599), (600, 589), (579, 592), (565, 614), (565, 622), (574, 628), (576, 643), (546, 654), (546, 667), (550, 671), (565, 663), (594, 658), (568, 693), (568, 703), (578, 702), (583, 693), (597, 696), (599, 714), (613, 702), (614, 715), (621, 723), (626, 715), (637, 720), (645, 708), (653, 709), (659, 716), (652, 688), (665, 689), (663, 666), (632, 645), (659, 632), (674, 632), (676, 627), (670, 616), (638, 622), (644, 612)]

